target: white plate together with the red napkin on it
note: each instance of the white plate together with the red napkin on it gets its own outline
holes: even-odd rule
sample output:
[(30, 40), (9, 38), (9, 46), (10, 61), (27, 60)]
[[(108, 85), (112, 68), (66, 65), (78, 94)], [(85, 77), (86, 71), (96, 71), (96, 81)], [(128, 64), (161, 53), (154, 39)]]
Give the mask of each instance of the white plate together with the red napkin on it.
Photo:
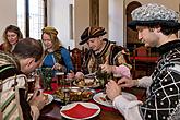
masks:
[(62, 117), (67, 119), (86, 120), (99, 115), (100, 108), (93, 103), (73, 103), (63, 106), (60, 110)]

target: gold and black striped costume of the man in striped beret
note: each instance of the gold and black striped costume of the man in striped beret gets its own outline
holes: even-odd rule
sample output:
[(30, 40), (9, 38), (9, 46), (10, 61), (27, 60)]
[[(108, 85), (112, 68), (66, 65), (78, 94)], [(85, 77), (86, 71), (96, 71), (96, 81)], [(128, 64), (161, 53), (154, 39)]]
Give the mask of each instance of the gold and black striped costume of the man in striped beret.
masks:
[(100, 64), (108, 63), (109, 65), (125, 65), (131, 69), (129, 52), (121, 46), (117, 46), (104, 39), (106, 45), (101, 52), (95, 53), (88, 50), (83, 61), (83, 72), (85, 74), (93, 73), (99, 69)]

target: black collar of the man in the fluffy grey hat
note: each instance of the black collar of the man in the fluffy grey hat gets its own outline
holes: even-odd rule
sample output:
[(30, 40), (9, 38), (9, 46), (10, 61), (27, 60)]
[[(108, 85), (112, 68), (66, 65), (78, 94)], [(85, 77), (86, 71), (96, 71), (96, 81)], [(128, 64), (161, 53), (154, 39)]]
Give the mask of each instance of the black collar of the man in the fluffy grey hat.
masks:
[(161, 55), (180, 47), (180, 39), (173, 40), (173, 41), (169, 41), (166, 43), (164, 45), (161, 45), (160, 47), (158, 47), (158, 52)]

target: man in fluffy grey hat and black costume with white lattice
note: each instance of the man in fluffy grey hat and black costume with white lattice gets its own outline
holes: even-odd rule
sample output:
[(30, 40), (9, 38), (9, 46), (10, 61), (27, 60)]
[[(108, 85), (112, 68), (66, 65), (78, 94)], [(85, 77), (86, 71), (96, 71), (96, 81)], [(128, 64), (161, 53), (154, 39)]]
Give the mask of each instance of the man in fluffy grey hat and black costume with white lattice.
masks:
[[(140, 80), (123, 77), (118, 84), (110, 81), (108, 97), (127, 120), (179, 120), (180, 116), (180, 29), (178, 13), (164, 5), (144, 4), (132, 12), (129, 27), (139, 32), (145, 46), (157, 47), (160, 58), (151, 76)], [(144, 103), (129, 101), (121, 95), (121, 87), (146, 87)]]

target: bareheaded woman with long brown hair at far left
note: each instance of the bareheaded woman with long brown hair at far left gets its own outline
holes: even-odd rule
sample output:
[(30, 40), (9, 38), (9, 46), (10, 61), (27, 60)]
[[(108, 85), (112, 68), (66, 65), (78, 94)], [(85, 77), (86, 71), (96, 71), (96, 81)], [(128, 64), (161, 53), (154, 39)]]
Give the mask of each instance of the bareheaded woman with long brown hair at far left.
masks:
[(3, 32), (4, 43), (0, 45), (0, 50), (11, 52), (21, 38), (23, 38), (23, 34), (17, 26), (7, 26), (5, 31)]

